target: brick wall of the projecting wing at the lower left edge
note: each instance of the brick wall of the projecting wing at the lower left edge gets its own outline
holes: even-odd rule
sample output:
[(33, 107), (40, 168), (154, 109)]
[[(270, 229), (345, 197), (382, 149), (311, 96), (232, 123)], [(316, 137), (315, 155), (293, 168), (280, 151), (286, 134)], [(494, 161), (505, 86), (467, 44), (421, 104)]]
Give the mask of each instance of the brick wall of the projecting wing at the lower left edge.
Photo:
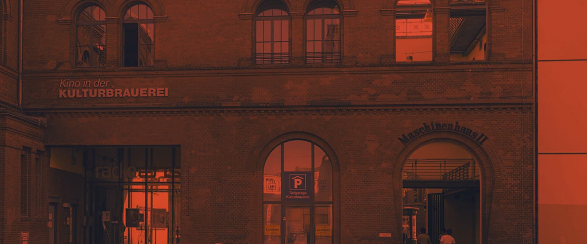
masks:
[[(29, 177), (39, 175), (41, 182), (46, 174), (48, 160), (44, 154), (42, 126), (27, 122), (21, 115), (14, 115), (7, 111), (0, 110), (0, 243), (20, 243), (21, 232), (29, 232), (31, 242), (46, 243), (47, 231), (47, 209), (44, 201), (46, 199), (46, 185), (32, 184), (29, 198), (29, 216), (21, 216), (21, 152), (23, 147), (30, 148), (30, 164), (35, 164), (36, 153), (41, 153), (40, 167), (32, 166)], [(29, 183), (33, 182), (28, 178)], [(41, 187), (41, 188), (35, 188)]]

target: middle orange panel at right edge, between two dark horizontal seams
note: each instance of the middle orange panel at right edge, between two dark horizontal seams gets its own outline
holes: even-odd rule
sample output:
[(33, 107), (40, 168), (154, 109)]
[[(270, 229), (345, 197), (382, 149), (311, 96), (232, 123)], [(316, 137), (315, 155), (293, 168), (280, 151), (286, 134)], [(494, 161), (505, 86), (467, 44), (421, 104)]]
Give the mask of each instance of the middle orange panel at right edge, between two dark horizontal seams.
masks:
[(587, 61), (538, 65), (538, 152), (587, 152)]

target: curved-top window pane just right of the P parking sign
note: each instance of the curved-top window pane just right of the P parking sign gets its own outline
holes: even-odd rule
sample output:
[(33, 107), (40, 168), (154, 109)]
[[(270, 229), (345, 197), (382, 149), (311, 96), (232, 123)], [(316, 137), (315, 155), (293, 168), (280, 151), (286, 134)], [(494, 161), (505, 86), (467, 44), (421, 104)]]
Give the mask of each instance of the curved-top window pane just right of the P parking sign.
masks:
[(314, 146), (316, 201), (332, 201), (332, 164), (326, 153)]

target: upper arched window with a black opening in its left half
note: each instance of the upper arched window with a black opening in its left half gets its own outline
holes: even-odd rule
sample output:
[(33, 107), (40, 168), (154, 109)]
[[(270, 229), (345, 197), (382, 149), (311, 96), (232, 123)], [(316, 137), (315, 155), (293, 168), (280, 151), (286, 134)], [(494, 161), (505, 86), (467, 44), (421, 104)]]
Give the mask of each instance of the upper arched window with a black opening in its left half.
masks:
[(145, 4), (131, 6), (124, 13), (122, 26), (124, 66), (152, 66), (155, 20), (151, 8)]

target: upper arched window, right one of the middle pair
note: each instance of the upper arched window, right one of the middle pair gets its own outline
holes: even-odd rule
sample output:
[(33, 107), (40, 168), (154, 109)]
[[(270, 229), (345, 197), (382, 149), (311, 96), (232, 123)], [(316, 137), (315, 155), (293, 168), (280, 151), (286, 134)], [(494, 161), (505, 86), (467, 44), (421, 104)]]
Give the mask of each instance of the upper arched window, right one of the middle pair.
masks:
[(316, 0), (306, 11), (306, 63), (340, 63), (340, 8)]

